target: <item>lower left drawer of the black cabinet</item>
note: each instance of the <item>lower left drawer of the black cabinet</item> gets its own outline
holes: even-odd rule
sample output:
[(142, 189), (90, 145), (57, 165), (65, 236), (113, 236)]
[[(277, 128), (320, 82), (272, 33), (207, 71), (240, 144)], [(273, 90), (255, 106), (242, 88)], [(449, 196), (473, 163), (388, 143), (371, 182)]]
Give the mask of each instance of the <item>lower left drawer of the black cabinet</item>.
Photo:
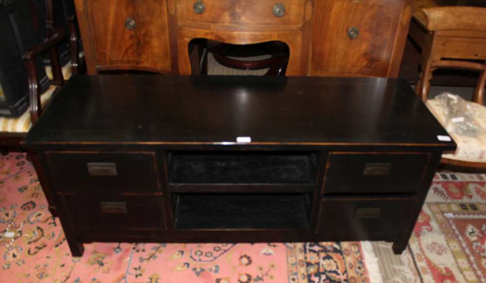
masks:
[(166, 223), (161, 196), (62, 196), (75, 229), (163, 230)]

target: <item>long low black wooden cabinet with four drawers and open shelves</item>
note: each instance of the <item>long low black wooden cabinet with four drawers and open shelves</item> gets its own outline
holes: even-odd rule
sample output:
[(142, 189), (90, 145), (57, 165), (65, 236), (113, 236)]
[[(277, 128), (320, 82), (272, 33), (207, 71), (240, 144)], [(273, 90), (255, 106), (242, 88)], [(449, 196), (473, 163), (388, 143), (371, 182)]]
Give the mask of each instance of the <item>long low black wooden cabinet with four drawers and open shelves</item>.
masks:
[(397, 79), (99, 75), (71, 78), (22, 146), (80, 256), (90, 241), (400, 253), (456, 145)]

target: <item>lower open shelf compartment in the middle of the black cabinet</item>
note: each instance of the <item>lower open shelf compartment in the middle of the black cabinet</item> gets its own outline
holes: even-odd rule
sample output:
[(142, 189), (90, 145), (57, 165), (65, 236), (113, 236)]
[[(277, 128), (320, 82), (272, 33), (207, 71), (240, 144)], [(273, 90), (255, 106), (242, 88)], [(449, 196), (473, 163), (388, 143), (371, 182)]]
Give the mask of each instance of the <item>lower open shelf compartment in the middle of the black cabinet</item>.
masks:
[(311, 194), (173, 194), (175, 229), (308, 229)]

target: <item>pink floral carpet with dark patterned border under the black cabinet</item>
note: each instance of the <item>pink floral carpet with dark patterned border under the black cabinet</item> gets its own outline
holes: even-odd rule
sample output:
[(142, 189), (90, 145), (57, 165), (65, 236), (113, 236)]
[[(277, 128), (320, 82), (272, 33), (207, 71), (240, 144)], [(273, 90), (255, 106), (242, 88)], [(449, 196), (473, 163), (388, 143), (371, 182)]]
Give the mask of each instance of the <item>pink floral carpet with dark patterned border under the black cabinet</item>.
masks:
[(73, 258), (30, 161), (0, 157), (0, 282), (381, 282), (379, 268), (369, 272), (377, 259), (367, 245), (92, 243)]

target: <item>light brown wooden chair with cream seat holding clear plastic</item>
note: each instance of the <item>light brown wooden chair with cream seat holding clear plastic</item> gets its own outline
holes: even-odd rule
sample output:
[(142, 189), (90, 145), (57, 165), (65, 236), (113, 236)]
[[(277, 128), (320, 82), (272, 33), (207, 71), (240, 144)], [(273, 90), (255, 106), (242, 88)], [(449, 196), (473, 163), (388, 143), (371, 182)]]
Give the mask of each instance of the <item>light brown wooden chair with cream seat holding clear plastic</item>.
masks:
[[(439, 68), (479, 71), (472, 100), (478, 104), (479, 117), (475, 118), (486, 128), (486, 108), (482, 107), (486, 84), (486, 8), (454, 6), (422, 11), (428, 37), (421, 42), (423, 70), (416, 86), (417, 95), (444, 124), (444, 109), (436, 101), (427, 100), (433, 71)], [(486, 169), (486, 137), (470, 138), (452, 133), (451, 137), (458, 144), (458, 149), (454, 154), (443, 155), (442, 163), (463, 169)]]

